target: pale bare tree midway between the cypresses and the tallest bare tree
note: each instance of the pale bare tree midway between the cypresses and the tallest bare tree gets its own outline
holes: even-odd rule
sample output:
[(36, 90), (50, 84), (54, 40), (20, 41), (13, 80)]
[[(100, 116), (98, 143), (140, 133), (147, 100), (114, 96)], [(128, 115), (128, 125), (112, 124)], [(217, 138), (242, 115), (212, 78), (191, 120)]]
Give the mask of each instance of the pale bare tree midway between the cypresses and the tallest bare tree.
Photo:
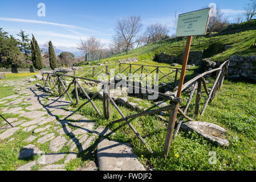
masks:
[(91, 36), (87, 40), (83, 41), (80, 40), (80, 44), (78, 46), (78, 49), (83, 51), (83, 53), (86, 55), (91, 54), (92, 60), (96, 59), (96, 53), (99, 52), (104, 45), (100, 43), (100, 40), (98, 40), (96, 37)]

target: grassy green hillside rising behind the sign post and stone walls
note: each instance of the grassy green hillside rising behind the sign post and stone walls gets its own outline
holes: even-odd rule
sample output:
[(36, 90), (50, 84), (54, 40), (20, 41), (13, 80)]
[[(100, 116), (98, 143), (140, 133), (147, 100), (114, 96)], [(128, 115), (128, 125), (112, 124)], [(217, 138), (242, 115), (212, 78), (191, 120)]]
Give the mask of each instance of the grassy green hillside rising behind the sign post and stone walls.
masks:
[[(241, 30), (239, 32), (234, 32), (234, 27), (237, 30), (241, 30), (242, 27), (245, 27), (245, 31)], [(194, 36), (192, 40), (191, 51), (204, 51), (208, 49), (212, 44), (217, 43), (218, 45), (232, 46), (229, 49), (226, 49), (224, 52), (218, 53), (217, 55), (210, 56), (214, 61), (225, 61), (229, 59), (232, 55), (242, 55), (242, 56), (251, 56), (255, 55), (256, 48), (253, 48), (252, 45), (256, 39), (256, 30), (247, 30), (247, 24), (242, 23), (237, 25), (232, 25), (227, 27), (227, 30), (221, 32), (220, 34), (215, 34), (210, 37), (209, 34), (206, 36)], [(200, 42), (200, 44), (199, 44)], [(116, 61), (119, 59), (127, 59), (128, 57), (138, 57), (139, 61), (143, 60), (153, 60), (155, 54), (161, 52), (168, 53), (170, 55), (180, 55), (181, 51), (185, 49), (185, 40), (180, 40), (175, 43), (174, 39), (163, 40), (162, 42), (155, 42), (147, 44), (143, 47), (133, 49), (129, 51), (128, 55), (124, 52), (119, 55), (101, 60), (101, 63), (105, 61)], [(213, 52), (213, 50), (210, 50)]]

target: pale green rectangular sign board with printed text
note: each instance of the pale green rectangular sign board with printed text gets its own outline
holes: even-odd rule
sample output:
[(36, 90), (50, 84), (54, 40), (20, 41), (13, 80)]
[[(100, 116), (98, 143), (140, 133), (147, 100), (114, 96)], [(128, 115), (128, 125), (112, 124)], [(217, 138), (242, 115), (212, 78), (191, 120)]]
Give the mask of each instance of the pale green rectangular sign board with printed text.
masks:
[(178, 15), (176, 36), (205, 35), (210, 7)]

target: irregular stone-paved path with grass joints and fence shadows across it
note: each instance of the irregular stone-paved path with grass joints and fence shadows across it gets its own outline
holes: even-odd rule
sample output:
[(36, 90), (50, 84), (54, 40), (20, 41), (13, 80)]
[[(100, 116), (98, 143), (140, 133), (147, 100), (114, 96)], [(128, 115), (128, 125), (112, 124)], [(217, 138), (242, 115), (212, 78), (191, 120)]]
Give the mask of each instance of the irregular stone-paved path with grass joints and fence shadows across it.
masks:
[[(19, 159), (26, 160), (27, 163), (17, 167), (18, 171), (29, 171), (35, 165), (39, 165), (41, 171), (63, 171), (67, 163), (76, 159), (80, 152), (90, 148), (96, 139), (112, 133), (104, 127), (96, 128), (95, 122), (83, 117), (83, 115), (63, 109), (63, 107), (70, 105), (70, 101), (50, 97), (25, 79), (3, 81), (0, 84), (14, 86), (15, 91), (14, 95), (0, 99), (0, 104), (5, 105), (0, 107), (0, 112), (15, 114), (15, 117), (7, 118), (14, 126), (13, 128), (7, 123), (6, 125), (3, 125), (3, 122), (0, 123), (0, 141), (14, 142), (16, 138), (13, 136), (19, 132), (29, 134), (29, 137), (23, 140), (24, 146), (19, 152)], [(72, 115), (67, 118), (70, 114)], [(105, 142), (104, 145), (102, 143), (101, 146), (108, 144), (108, 142)], [(46, 151), (50, 152), (40, 149), (41, 146), (45, 147), (45, 145), (48, 146)], [(65, 147), (69, 148), (68, 152), (67, 149), (64, 150), (66, 152), (62, 152)], [(121, 151), (120, 148), (118, 149)], [(127, 148), (125, 149), (127, 150)], [(130, 148), (129, 151), (130, 155)], [(102, 156), (102, 152), (99, 154)], [(35, 155), (42, 156), (31, 161), (31, 157)], [(123, 156), (121, 157), (123, 158)], [(132, 155), (132, 158), (135, 159), (136, 156)], [(115, 159), (112, 159), (113, 163), (115, 163)], [(60, 160), (62, 160), (60, 162), (62, 164), (59, 164)], [(128, 159), (125, 158), (125, 161)], [(103, 158), (99, 162), (103, 162), (101, 168), (108, 169), (107, 166), (103, 167), (106, 163)], [(133, 165), (136, 166), (135, 169), (144, 169), (139, 164)], [(109, 168), (109, 170), (112, 169)], [(121, 167), (120, 169), (129, 168)], [(96, 164), (91, 161), (86, 167), (77, 170), (96, 170)]]

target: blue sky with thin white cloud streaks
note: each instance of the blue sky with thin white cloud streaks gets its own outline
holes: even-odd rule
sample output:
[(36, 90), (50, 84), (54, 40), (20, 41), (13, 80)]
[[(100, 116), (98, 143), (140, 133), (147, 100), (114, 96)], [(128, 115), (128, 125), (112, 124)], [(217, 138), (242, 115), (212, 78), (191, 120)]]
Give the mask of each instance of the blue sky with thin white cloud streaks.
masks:
[[(106, 45), (115, 34), (118, 19), (140, 15), (143, 30), (152, 23), (170, 26), (177, 10), (178, 14), (207, 7), (216, 3), (229, 21), (242, 13), (246, 0), (94, 0), (94, 1), (1, 1), (0, 27), (12, 35), (19, 30), (33, 33), (39, 45), (51, 40), (59, 49), (77, 51), (80, 39), (96, 36)], [(46, 16), (39, 17), (38, 3), (46, 5)], [(170, 28), (170, 27), (169, 27)], [(170, 28), (170, 34), (173, 30)], [(141, 31), (143, 34), (143, 31)]]

